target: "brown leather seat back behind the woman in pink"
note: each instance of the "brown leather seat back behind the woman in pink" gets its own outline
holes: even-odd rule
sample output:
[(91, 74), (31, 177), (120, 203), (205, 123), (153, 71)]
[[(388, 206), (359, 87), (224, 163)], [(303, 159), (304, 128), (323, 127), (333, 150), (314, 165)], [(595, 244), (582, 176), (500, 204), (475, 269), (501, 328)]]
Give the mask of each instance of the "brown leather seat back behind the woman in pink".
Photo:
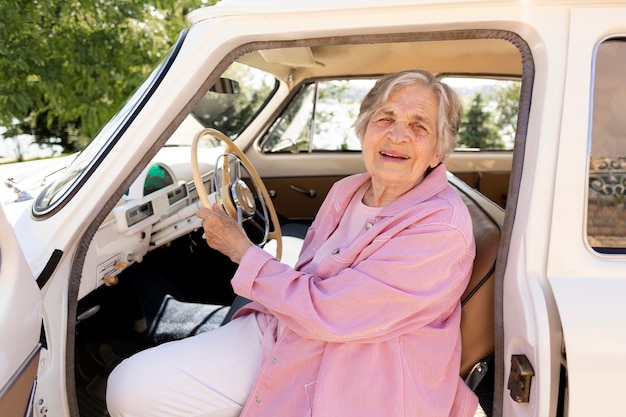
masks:
[(494, 351), (494, 272), (500, 225), (476, 202), (459, 192), (474, 226), (476, 258), (467, 289), (461, 296), (461, 376)]

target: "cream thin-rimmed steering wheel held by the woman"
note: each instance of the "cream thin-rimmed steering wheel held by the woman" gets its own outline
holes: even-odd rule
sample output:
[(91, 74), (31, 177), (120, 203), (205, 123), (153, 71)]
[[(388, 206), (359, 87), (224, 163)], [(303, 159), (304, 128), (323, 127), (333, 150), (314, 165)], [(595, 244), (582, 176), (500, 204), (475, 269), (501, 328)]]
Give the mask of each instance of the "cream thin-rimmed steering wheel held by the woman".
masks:
[[(211, 196), (207, 194), (204, 187), (198, 163), (198, 143), (204, 136), (211, 136), (226, 143), (226, 151), (215, 161), (213, 182), (216, 191)], [(243, 226), (244, 222), (251, 224), (263, 235), (262, 242), (258, 243), (259, 246), (263, 246), (269, 240), (276, 240), (275, 257), (280, 260), (283, 240), (276, 209), (261, 177), (237, 145), (219, 130), (202, 129), (194, 136), (191, 144), (191, 170), (202, 206), (213, 209), (213, 204), (217, 203), (230, 217), (237, 220), (240, 226)], [(250, 176), (255, 192), (250, 190), (242, 179), (242, 172), (247, 172)], [(260, 206), (258, 208), (255, 193)], [(270, 219), (274, 226), (273, 231), (270, 230)]]

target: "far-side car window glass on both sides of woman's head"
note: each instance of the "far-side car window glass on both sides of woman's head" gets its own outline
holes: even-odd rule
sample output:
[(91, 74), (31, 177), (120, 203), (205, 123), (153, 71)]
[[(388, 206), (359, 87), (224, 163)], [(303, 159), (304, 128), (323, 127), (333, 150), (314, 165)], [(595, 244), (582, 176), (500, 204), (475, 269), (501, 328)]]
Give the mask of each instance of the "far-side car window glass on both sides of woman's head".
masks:
[[(461, 97), (458, 151), (512, 150), (520, 81), (444, 77)], [(303, 85), (263, 139), (264, 152), (360, 151), (352, 128), (375, 79), (323, 80)]]

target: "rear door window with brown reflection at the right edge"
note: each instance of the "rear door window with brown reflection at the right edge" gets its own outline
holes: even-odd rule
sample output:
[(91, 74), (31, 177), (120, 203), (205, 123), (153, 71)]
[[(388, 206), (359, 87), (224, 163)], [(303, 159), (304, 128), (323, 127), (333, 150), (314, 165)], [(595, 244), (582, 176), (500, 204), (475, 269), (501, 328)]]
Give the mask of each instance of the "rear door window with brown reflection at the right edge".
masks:
[(597, 49), (593, 86), (587, 240), (598, 252), (626, 253), (626, 39)]

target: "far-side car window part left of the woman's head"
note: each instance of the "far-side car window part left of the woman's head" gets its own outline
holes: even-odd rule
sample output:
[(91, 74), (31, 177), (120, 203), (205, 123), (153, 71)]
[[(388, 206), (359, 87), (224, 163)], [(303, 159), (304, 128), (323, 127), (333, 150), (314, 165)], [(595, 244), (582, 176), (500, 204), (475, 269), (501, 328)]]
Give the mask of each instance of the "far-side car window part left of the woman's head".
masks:
[(263, 139), (264, 152), (360, 151), (352, 124), (375, 79), (303, 85)]

